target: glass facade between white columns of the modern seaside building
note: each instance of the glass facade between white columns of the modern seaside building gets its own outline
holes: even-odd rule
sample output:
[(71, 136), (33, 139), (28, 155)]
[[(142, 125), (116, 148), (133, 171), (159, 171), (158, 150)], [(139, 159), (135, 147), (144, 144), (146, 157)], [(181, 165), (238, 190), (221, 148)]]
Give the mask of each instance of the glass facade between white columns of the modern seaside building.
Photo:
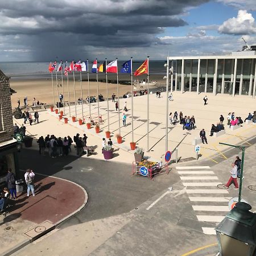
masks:
[[(253, 82), (255, 73), (254, 57), (241, 58), (241, 56), (230, 56), (230, 58), (221, 58), (214, 56), (218, 60), (217, 74), (215, 74), (216, 59), (200, 59), (199, 93), (212, 93), (216, 86), (216, 93), (226, 94), (253, 94)], [(225, 56), (226, 57), (226, 56)], [(236, 82), (234, 84), (234, 64), (237, 58)], [(177, 82), (176, 89), (184, 91), (197, 91), (197, 69), (199, 59), (184, 58), (184, 84), (181, 85), (181, 64), (182, 60), (177, 61)], [(214, 77), (216, 75), (216, 80)], [(176, 77), (174, 77), (174, 80)], [(214, 82), (216, 81), (216, 84)], [(174, 82), (175, 84), (175, 82)], [(233, 86), (235, 89), (233, 91)]]

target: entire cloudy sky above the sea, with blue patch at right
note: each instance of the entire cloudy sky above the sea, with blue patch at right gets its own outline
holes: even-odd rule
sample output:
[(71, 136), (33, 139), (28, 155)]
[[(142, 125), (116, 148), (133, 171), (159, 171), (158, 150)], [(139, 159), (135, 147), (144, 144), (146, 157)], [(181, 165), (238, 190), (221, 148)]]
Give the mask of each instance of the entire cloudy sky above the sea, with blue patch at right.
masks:
[(0, 2), (0, 61), (142, 60), (256, 44), (255, 0)]

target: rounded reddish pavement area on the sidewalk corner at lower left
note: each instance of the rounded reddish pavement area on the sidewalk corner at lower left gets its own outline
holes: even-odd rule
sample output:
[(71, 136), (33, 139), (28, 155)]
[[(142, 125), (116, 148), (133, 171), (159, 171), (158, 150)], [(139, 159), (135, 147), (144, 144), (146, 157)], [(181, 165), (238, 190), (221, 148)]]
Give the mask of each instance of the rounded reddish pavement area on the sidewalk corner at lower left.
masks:
[(55, 224), (79, 209), (85, 201), (84, 191), (76, 184), (39, 174), (35, 176), (35, 194), (35, 197), (27, 197), (25, 184), (24, 191), (18, 193), (11, 214), (18, 213), (20, 218), (36, 224), (45, 220)]

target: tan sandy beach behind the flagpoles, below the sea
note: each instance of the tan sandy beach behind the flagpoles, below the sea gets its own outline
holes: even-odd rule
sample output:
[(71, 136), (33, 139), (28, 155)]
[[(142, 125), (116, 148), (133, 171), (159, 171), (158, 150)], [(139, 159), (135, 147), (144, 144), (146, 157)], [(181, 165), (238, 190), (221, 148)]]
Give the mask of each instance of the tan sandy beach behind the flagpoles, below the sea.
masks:
[[(144, 77), (143, 77), (144, 78)], [(63, 82), (63, 86), (60, 86), (61, 81), (58, 82), (59, 87), (56, 86), (56, 80), (53, 80), (53, 89), (55, 93), (55, 102), (58, 100), (58, 95), (63, 93), (64, 90), (64, 99), (68, 101), (68, 86), (67, 81)], [(75, 82), (76, 85), (76, 99), (81, 97), (81, 84), (80, 81)], [(97, 83), (89, 82), (90, 85), (90, 96), (97, 97)], [(32, 105), (33, 98), (35, 97), (36, 101), (43, 102), (45, 104), (53, 103), (53, 94), (52, 94), (52, 80), (51, 79), (28, 79), (28, 80), (11, 80), (10, 79), (11, 89), (15, 90), (16, 93), (13, 93), (11, 96), (11, 104), (13, 108), (18, 106), (18, 98), (20, 100), (20, 105), (23, 106), (23, 99), (27, 96), (28, 105)], [(109, 89), (109, 97), (112, 96), (113, 93), (117, 95), (117, 84), (108, 84)], [(138, 88), (137, 88), (138, 89)], [(106, 83), (98, 82), (98, 90), (104, 97), (106, 97)], [(131, 87), (129, 85), (120, 85), (119, 84), (119, 94), (123, 95), (127, 92), (131, 91)], [(88, 93), (88, 82), (82, 81), (82, 94), (85, 99)], [(73, 80), (69, 80), (69, 97), (70, 100), (75, 100), (74, 93), (74, 84)]]

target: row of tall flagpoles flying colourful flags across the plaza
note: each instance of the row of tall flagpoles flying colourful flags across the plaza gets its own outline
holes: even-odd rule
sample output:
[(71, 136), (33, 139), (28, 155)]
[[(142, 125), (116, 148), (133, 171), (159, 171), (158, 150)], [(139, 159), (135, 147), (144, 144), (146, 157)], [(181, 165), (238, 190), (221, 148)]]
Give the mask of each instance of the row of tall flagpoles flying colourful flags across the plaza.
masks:
[[(80, 85), (81, 85), (81, 102), (82, 102), (82, 121), (84, 121), (84, 108), (83, 108), (83, 95), (82, 95), (82, 72), (87, 72), (88, 77), (88, 97), (89, 97), (89, 122), (91, 122), (91, 108), (90, 108), (90, 85), (89, 85), (89, 61), (81, 60), (74, 63), (71, 61), (71, 64), (68, 65), (68, 61), (65, 63), (64, 68), (64, 76), (67, 76), (67, 88), (68, 88), (68, 105), (69, 105), (69, 117), (71, 117), (71, 108), (70, 108), (70, 93), (69, 93), (69, 78), (68, 73), (73, 72), (73, 88), (74, 88), (74, 97), (75, 97), (75, 115), (77, 119), (77, 105), (76, 105), (76, 84), (75, 84), (75, 71), (80, 72)], [(121, 136), (121, 125), (120, 125), (120, 104), (119, 104), (119, 84), (118, 84), (118, 67), (117, 67), (117, 59), (107, 64), (107, 59), (105, 59), (105, 68), (106, 68), (106, 98), (107, 98), (107, 108), (108, 108), (108, 131), (109, 131), (109, 95), (108, 95), (108, 73), (115, 73), (117, 75), (117, 99), (118, 99), (118, 133)], [(48, 67), (49, 72), (52, 76), (52, 92), (53, 92), (53, 105), (55, 107), (55, 94), (54, 94), (54, 87), (53, 87), (53, 71), (56, 72), (56, 85), (57, 85), (57, 94), (59, 99), (59, 87), (58, 87), (58, 80), (57, 80), (57, 72), (61, 72), (61, 83), (62, 83), (62, 94), (63, 94), (63, 111), (65, 114), (65, 97), (64, 97), (64, 85), (63, 85), (63, 62), (60, 61), (58, 67), (56, 65), (56, 61), (54, 63), (49, 63)], [(100, 64), (98, 67), (97, 59), (93, 61), (92, 65), (92, 73), (96, 73), (96, 82), (97, 82), (97, 103), (98, 103), (98, 125), (100, 125), (100, 105), (99, 105), (99, 93), (98, 93), (98, 73), (104, 72), (104, 64)], [(133, 74), (133, 57), (130, 60), (125, 61), (122, 64), (121, 73), (130, 73), (131, 75), (131, 137), (132, 142), (134, 142), (134, 132), (133, 132), (133, 75), (139, 76), (142, 74), (147, 74), (147, 151), (148, 151), (148, 134), (149, 134), (149, 56), (147, 59), (141, 64), (141, 66), (134, 72)], [(58, 100), (59, 102), (59, 100)], [(60, 102), (59, 102), (60, 104)], [(60, 105), (57, 105), (60, 107)]]

